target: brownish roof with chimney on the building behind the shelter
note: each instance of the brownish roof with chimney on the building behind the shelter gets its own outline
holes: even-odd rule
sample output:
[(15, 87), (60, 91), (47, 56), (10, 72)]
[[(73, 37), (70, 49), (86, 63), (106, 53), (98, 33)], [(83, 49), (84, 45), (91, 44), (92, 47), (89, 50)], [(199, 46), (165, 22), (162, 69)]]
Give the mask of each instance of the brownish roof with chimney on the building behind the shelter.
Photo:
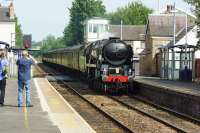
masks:
[[(175, 14), (174, 14), (175, 13)], [(147, 31), (150, 36), (171, 37), (174, 33), (174, 15), (176, 16), (176, 35), (180, 34), (186, 26), (186, 16), (188, 27), (195, 25), (196, 17), (174, 5), (167, 5), (166, 9), (159, 13), (148, 16)]]

